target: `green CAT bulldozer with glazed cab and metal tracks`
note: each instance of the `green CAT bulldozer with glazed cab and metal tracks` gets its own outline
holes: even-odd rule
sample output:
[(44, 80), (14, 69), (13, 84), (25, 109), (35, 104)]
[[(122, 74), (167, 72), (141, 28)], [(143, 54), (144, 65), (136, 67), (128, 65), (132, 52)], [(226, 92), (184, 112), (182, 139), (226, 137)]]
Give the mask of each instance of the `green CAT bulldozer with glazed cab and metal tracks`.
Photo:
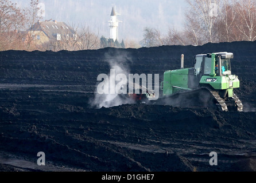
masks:
[(211, 100), (222, 111), (242, 112), (242, 102), (234, 93), (240, 82), (237, 75), (231, 74), (232, 58), (233, 53), (228, 52), (197, 54), (192, 67), (184, 68), (182, 54), (181, 68), (164, 72), (161, 101), (181, 98), (186, 102), (187, 98), (195, 98), (195, 103), (204, 101), (208, 105)]

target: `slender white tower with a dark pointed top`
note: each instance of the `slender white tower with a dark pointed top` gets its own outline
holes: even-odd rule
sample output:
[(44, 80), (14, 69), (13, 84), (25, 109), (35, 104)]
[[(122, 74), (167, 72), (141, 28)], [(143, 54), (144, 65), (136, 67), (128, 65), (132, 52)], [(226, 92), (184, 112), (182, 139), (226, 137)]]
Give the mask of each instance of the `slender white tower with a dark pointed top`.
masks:
[(118, 41), (118, 23), (122, 22), (117, 19), (117, 13), (115, 13), (114, 7), (112, 8), (111, 14), (110, 14), (110, 39), (113, 39), (114, 41)]

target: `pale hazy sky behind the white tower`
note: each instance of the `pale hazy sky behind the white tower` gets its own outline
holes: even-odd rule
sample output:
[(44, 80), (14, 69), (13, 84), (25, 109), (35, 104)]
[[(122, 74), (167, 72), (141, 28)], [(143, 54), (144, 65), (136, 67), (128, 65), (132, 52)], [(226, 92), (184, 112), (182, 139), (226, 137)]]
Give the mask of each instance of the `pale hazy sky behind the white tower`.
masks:
[[(29, 6), (29, 0), (13, 0), (18, 6)], [(110, 37), (110, 13), (113, 6), (120, 14), (119, 40), (142, 39), (144, 27), (154, 27), (166, 34), (168, 27), (181, 29), (185, 0), (39, 0), (45, 5), (43, 20), (56, 19), (69, 25), (83, 23), (99, 36)]]

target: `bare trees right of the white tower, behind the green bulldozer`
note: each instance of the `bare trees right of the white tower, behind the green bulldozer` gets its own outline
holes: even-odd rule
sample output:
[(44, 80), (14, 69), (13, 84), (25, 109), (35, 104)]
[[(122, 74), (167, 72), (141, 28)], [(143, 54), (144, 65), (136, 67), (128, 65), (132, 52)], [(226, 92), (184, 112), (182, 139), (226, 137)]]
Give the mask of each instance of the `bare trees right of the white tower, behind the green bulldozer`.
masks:
[(256, 40), (255, 0), (187, 0), (183, 29), (168, 33), (143, 29), (142, 46), (203, 45), (208, 42)]

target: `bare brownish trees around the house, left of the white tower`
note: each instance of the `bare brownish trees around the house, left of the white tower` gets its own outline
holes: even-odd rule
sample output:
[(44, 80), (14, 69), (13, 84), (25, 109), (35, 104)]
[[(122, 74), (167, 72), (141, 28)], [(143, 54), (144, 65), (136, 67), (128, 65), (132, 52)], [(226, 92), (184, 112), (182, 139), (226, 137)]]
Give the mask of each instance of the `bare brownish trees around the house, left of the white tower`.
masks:
[(71, 38), (57, 40), (50, 37), (46, 43), (36, 43), (37, 34), (31, 28), (42, 21), (38, 0), (30, 0), (29, 7), (21, 8), (9, 0), (0, 0), (0, 51), (3, 50), (87, 50), (99, 49), (99, 34), (86, 25), (69, 25)]

